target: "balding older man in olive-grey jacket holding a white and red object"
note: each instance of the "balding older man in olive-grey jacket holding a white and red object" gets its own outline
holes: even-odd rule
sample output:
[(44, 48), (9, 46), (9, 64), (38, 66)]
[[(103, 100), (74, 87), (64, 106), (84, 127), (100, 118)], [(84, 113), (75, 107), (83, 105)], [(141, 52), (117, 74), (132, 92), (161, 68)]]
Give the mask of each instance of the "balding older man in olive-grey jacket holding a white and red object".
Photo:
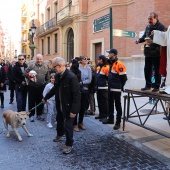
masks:
[[(36, 62), (29, 65), (26, 69), (26, 73), (34, 70), (37, 73), (37, 81), (29, 80), (28, 87), (28, 108), (29, 110), (38, 105), (43, 98), (43, 90), (45, 84), (49, 81), (48, 67), (43, 62), (43, 56), (37, 54)], [(45, 118), (42, 116), (43, 105), (37, 107), (37, 120), (44, 121)], [(35, 109), (30, 113), (30, 121), (34, 122)]]

